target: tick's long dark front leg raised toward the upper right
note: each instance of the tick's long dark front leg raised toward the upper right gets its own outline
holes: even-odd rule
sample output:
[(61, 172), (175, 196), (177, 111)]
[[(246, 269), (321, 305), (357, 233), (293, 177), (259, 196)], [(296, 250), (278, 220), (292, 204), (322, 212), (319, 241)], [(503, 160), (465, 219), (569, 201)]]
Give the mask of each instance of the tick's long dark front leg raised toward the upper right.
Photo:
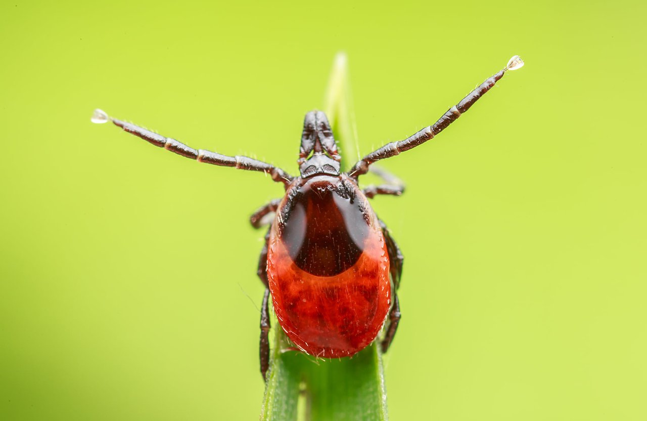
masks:
[(458, 119), (458, 117), (461, 117), (462, 113), (465, 113), (465, 111), (470, 109), (470, 107), (474, 105), (474, 103), (479, 100), (479, 98), (481, 98), (487, 91), (490, 90), (492, 86), (494, 86), (494, 84), (496, 84), (496, 82), (498, 82), (499, 79), (503, 77), (503, 74), (505, 74), (506, 71), (518, 69), (522, 65), (523, 61), (521, 61), (521, 58), (519, 58), (519, 56), (512, 57), (503, 70), (485, 80), (485, 82), (476, 87), (474, 91), (470, 92), (469, 95), (463, 98), (461, 102), (448, 109), (446, 113), (444, 113), (443, 116), (438, 119), (438, 121), (435, 122), (432, 126), (427, 126), (421, 131), (415, 133), (415, 135), (404, 139), (404, 141), (391, 142), (382, 146), (382, 148), (371, 152), (364, 158), (360, 159), (360, 161), (358, 161), (358, 163), (356, 163), (353, 168), (351, 168), (351, 170), (348, 172), (348, 175), (356, 178), (358, 176), (361, 176), (362, 174), (366, 174), (369, 166), (375, 161), (398, 155), (400, 154), (400, 152), (410, 150), (430, 139), (433, 139), (434, 136), (438, 135), (447, 126), (452, 124), (454, 120)]

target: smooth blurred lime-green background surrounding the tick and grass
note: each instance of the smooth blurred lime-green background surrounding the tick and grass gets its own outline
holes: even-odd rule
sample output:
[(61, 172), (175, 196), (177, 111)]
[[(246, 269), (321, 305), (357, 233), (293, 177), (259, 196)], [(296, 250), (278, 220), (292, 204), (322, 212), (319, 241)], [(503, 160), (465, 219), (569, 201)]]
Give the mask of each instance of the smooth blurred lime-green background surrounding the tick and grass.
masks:
[[(349, 56), (375, 209), (406, 256), (393, 420), (647, 418), (646, 6), (639, 1), (18, 2), (0, 6), (0, 419), (253, 420), (261, 174), (296, 172), (306, 111)], [(355, 151), (346, 151), (356, 157)]]

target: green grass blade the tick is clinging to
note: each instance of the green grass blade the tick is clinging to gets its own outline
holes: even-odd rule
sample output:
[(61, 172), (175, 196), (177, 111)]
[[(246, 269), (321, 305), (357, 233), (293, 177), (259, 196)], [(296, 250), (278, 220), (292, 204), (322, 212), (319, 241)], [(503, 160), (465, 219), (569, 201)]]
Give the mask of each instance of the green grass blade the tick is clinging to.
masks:
[[(347, 60), (335, 57), (324, 110), (342, 151), (342, 168), (359, 155)], [(263, 421), (386, 421), (386, 387), (379, 347), (353, 358), (320, 359), (285, 351), (289, 341), (274, 320), (274, 348), (265, 388)]]

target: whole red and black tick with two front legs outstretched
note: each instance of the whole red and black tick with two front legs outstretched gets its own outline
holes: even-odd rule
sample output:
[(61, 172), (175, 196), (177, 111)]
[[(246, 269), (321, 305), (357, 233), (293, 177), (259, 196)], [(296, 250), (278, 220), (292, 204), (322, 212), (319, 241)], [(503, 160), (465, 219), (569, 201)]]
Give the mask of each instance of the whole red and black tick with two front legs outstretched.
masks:
[(195, 150), (175, 139), (113, 119), (100, 109), (94, 111), (92, 121), (110, 120), (175, 154), (202, 163), (263, 172), (283, 183), (285, 195), (250, 217), (255, 228), (269, 224), (258, 263), (258, 276), (265, 285), (259, 352), (265, 378), (270, 351), (270, 295), (281, 328), (294, 346), (307, 354), (321, 358), (352, 356), (375, 341), (383, 327), (384, 336), (378, 340), (382, 351), (388, 350), (400, 321), (397, 290), (403, 257), (368, 199), (378, 194), (400, 196), (404, 185), (377, 168), (372, 171), (384, 184), (360, 188), (358, 178), (376, 161), (433, 139), (506, 71), (521, 66), (521, 58), (512, 57), (503, 70), (448, 109), (432, 126), (382, 146), (347, 172), (340, 169), (340, 151), (322, 111), (305, 115), (297, 161), (300, 175), (296, 177), (249, 157)]

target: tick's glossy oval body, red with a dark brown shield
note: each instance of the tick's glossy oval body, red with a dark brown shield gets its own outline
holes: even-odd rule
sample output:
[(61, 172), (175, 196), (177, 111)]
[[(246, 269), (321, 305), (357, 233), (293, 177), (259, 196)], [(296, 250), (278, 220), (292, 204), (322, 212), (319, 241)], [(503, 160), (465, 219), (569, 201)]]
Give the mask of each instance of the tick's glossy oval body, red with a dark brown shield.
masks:
[(287, 193), (269, 240), (274, 312), (308, 354), (351, 356), (377, 337), (391, 303), (377, 217), (345, 176), (300, 180)]

